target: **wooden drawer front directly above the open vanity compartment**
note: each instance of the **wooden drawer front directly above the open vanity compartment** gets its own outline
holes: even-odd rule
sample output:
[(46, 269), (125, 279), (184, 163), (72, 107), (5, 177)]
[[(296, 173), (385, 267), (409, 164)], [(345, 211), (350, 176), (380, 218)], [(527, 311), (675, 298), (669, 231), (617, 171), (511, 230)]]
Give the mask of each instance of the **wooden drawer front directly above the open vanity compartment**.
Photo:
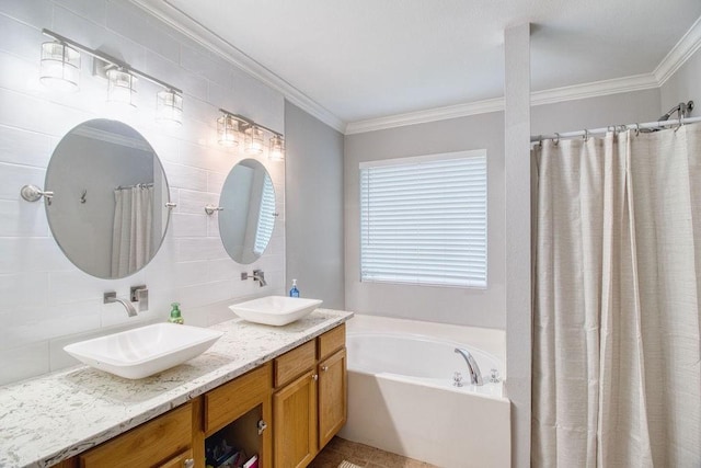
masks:
[(211, 435), (271, 395), (271, 364), (266, 363), (205, 393), (205, 434)]

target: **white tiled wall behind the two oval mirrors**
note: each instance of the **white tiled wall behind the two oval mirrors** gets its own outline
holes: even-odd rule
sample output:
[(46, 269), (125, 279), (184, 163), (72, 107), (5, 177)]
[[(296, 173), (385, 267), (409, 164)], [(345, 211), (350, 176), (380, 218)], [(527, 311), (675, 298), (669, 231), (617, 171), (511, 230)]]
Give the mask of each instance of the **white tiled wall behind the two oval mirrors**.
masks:
[[(184, 92), (184, 122), (176, 129), (153, 122), (153, 84), (140, 80), (138, 111), (119, 113), (104, 103), (106, 82), (82, 56), (80, 91), (59, 94), (38, 81), (41, 33), (53, 30), (122, 58)], [(184, 34), (137, 7), (112, 0), (8, 0), (0, 2), (0, 385), (74, 364), (62, 346), (72, 341), (163, 320), (182, 303), (185, 320), (207, 326), (233, 317), (234, 300), (285, 290), (285, 164), (266, 165), (279, 212), (271, 246), (252, 265), (227, 255), (217, 216), (219, 191), (244, 155), (216, 141), (218, 109), (284, 130), (284, 96), (234, 68)], [(27, 183), (44, 185), (50, 155), (68, 130), (90, 118), (118, 118), (143, 135), (159, 153), (173, 210), (153, 261), (127, 278), (108, 281), (77, 270), (53, 239), (43, 202), (20, 198)], [(242, 282), (241, 272), (265, 271), (268, 285)], [(146, 284), (150, 310), (128, 318), (102, 295)]]

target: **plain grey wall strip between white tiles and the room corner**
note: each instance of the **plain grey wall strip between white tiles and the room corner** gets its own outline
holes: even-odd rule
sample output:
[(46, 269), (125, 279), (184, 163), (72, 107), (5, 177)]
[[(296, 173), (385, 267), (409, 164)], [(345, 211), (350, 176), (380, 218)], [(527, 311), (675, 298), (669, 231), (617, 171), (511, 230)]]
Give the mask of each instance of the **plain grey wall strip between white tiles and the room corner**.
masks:
[(285, 133), (287, 287), (343, 309), (343, 135), (289, 102)]

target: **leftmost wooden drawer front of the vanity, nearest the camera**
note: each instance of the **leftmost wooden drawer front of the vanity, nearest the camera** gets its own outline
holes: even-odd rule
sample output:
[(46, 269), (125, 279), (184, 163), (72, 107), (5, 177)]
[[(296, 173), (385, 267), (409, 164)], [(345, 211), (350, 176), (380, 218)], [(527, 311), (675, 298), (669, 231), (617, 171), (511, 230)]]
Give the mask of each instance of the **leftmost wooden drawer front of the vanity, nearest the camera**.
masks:
[(189, 448), (193, 440), (192, 429), (192, 403), (186, 403), (85, 452), (80, 455), (80, 466), (158, 466)]

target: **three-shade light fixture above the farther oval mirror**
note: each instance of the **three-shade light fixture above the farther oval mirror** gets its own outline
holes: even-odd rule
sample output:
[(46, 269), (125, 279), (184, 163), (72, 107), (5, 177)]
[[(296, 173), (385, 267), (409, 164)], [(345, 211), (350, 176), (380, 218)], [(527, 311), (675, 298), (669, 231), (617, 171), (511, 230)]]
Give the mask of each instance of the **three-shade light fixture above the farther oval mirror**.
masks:
[(220, 145), (238, 145), (241, 137), (244, 139), (244, 150), (249, 155), (262, 155), (265, 150), (265, 132), (273, 136), (268, 145), (268, 159), (283, 161), (285, 159), (285, 138), (279, 132), (275, 132), (264, 125), (257, 124), (243, 115), (233, 114), (220, 109), (223, 115), (217, 118), (217, 136)]

